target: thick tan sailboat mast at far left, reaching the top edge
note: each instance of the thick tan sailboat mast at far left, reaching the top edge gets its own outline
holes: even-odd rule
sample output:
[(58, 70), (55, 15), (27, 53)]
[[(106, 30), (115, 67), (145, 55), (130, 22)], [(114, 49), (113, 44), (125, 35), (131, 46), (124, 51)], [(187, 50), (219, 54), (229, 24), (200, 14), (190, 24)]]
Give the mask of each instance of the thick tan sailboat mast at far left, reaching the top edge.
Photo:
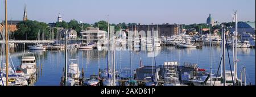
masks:
[(8, 65), (9, 65), (9, 61), (8, 61), (8, 26), (7, 26), (7, 0), (5, 0), (5, 59), (6, 59), (6, 86), (8, 86)]

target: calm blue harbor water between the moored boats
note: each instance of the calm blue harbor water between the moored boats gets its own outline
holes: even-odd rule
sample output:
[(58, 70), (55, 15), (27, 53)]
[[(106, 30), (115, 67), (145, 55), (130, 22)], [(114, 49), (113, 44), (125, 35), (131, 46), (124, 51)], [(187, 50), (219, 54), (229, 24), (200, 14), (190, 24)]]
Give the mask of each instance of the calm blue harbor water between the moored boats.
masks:
[[(195, 63), (199, 68), (207, 69), (210, 67), (210, 48), (203, 47), (203, 49), (179, 49), (175, 47), (160, 47), (155, 53), (156, 65), (162, 65), (167, 61), (178, 61), (179, 65), (184, 62)], [(230, 64), (233, 70), (233, 51), (229, 49)], [(35, 86), (59, 86), (60, 78), (63, 74), (65, 65), (65, 50), (26, 50), (26, 52), (33, 52), (36, 56), (36, 63), (38, 67), (38, 79)], [(20, 65), (20, 60), (23, 50), (11, 50), (11, 59), (15, 68)], [(130, 51), (117, 50), (115, 52), (115, 64), (117, 71), (123, 68), (132, 67), (133, 71), (140, 66), (140, 61), (143, 65), (152, 65), (153, 58), (150, 56), (152, 52), (147, 51)], [(68, 50), (68, 58), (79, 59), (80, 70), (83, 68), (85, 77), (89, 78), (92, 74), (98, 74), (99, 69), (105, 69), (107, 66), (108, 51), (97, 49), (93, 50)], [(130, 57), (131, 56), (131, 57)], [(131, 60), (130, 60), (131, 58)], [(238, 62), (238, 77), (240, 78), (240, 71), (246, 67), (246, 82), (251, 82), (255, 85), (255, 49), (253, 48), (238, 48), (237, 49)], [(221, 60), (221, 47), (212, 47), (212, 68), (213, 73), (217, 72), (218, 65)], [(109, 63), (111, 64), (111, 63)], [(226, 52), (226, 70), (229, 70), (228, 52)]]

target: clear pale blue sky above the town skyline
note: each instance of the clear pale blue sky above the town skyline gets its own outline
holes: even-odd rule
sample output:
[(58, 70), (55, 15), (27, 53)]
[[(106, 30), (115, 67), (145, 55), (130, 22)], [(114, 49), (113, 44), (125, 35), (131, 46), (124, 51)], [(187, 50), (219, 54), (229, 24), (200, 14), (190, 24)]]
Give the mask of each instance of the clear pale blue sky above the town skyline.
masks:
[[(205, 23), (209, 14), (218, 22), (231, 22), (238, 11), (240, 21), (255, 20), (255, 0), (7, 0), (9, 19), (22, 20), (24, 3), (28, 19), (56, 22), (60, 12), (65, 21), (71, 19), (94, 23)], [(5, 19), (1, 0), (0, 19)]]

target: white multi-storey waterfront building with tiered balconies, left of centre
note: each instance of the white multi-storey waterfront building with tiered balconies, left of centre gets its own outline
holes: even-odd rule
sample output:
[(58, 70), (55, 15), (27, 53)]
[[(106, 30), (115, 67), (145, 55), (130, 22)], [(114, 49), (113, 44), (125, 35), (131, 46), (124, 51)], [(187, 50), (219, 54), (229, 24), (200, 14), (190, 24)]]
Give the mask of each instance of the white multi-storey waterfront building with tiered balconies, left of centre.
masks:
[(98, 27), (88, 27), (89, 30), (80, 32), (82, 36), (82, 43), (97, 43), (98, 40), (106, 39), (108, 32), (101, 31)]

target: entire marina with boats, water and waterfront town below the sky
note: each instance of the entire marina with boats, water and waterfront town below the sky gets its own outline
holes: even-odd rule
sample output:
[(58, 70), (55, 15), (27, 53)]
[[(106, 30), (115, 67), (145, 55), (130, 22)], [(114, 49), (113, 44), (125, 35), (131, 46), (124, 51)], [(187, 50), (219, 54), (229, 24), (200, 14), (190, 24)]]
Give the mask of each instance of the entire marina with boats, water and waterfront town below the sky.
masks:
[(106, 16), (47, 24), (28, 20), (25, 4), (23, 20), (8, 20), (5, 0), (0, 86), (255, 86), (255, 21), (238, 11), (189, 25)]

